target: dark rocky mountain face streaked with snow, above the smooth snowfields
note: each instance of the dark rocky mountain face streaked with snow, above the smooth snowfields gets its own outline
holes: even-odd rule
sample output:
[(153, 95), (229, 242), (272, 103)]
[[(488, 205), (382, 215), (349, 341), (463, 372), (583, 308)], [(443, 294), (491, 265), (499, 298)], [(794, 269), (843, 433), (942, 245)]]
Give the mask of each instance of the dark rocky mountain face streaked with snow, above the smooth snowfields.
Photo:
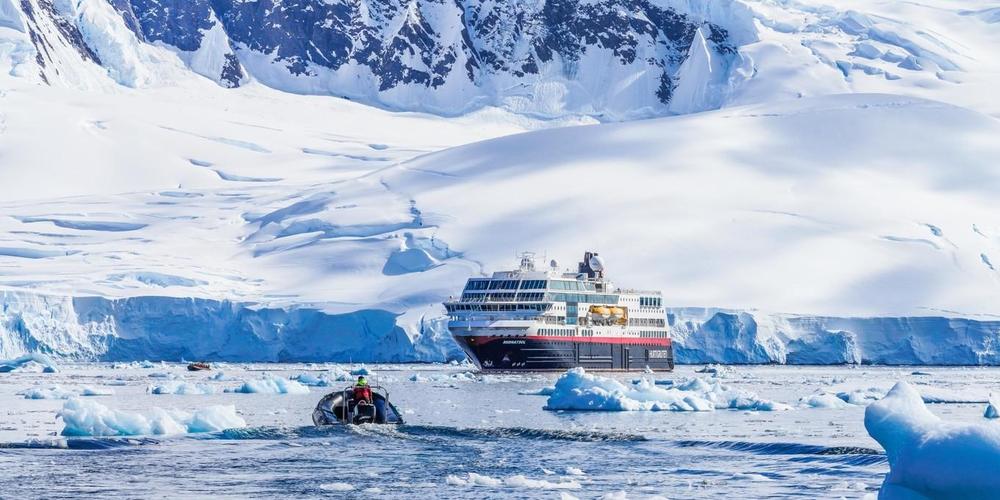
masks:
[[(484, 104), (663, 114), (692, 49), (698, 66), (738, 55), (707, 9), (653, 0), (15, 1), (2, 0), (0, 12), (28, 35), (36, 56), (28, 62), (46, 82), (97, 65), (143, 86), (163, 72), (150, 59), (166, 48), (226, 87), (252, 76), (281, 90), (441, 114)], [(706, 86), (694, 81), (706, 76), (700, 68), (686, 74), (686, 88)], [(678, 109), (705, 104), (714, 103)]]

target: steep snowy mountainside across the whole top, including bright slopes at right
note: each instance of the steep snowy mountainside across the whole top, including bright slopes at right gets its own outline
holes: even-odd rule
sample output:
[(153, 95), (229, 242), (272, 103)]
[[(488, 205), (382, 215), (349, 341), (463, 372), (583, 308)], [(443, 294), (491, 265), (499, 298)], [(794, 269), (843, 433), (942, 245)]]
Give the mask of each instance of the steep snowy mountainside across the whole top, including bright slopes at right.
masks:
[(622, 120), (851, 91), (997, 113), (991, 13), (975, 2), (0, 0), (0, 59), (52, 85), (197, 74), (444, 115)]

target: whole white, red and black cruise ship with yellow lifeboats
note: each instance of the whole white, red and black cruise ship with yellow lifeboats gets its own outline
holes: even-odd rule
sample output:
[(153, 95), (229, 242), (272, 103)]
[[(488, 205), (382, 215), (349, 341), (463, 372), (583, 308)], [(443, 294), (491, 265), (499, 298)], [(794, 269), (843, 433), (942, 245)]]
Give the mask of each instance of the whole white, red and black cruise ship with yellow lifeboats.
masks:
[(555, 261), (472, 278), (445, 302), (448, 329), (482, 370), (672, 370), (663, 297), (615, 288), (604, 261), (587, 252), (577, 272)]

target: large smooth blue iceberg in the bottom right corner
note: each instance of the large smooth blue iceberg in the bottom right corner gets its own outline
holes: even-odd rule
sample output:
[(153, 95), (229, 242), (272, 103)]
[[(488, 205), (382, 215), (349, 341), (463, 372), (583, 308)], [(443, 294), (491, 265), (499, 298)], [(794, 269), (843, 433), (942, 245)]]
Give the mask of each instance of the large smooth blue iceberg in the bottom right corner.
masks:
[(865, 428), (889, 459), (879, 498), (987, 499), (1000, 491), (1000, 426), (943, 422), (906, 382), (868, 406)]

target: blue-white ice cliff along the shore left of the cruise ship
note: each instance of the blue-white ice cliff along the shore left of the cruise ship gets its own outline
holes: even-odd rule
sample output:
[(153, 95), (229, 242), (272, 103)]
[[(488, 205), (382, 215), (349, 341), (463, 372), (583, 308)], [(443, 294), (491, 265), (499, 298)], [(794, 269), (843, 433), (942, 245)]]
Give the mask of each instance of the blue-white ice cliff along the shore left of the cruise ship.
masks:
[[(401, 326), (402, 325), (402, 326)], [(0, 293), (0, 358), (80, 360), (448, 361), (440, 322), (404, 328), (382, 310), (327, 314), (206, 299)]]

